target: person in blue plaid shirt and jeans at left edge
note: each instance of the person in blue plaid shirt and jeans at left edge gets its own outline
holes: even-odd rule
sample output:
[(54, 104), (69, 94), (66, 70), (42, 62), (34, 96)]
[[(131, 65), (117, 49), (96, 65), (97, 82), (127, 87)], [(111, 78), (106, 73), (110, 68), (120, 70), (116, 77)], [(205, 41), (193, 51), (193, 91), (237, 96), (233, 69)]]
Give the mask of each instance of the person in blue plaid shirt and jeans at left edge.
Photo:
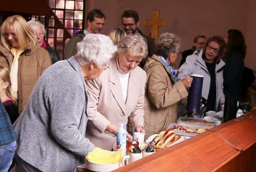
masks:
[(8, 172), (16, 150), (17, 135), (0, 100), (0, 172)]

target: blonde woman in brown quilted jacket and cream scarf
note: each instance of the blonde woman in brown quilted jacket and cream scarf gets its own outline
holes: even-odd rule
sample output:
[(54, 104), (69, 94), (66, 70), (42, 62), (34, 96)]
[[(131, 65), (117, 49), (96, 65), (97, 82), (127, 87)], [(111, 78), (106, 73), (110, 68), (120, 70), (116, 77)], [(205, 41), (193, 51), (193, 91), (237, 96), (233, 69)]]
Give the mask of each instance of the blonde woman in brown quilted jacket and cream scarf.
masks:
[(40, 48), (22, 16), (8, 17), (1, 27), (0, 65), (8, 68), (11, 95), (19, 114), (42, 72), (52, 64), (49, 53)]

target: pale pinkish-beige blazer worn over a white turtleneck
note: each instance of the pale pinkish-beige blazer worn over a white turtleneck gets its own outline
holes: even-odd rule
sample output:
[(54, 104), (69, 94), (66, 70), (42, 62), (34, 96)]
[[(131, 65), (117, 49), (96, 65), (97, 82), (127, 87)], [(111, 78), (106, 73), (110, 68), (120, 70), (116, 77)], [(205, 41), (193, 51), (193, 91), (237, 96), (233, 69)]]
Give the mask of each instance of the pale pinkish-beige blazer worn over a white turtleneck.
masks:
[(127, 123), (129, 117), (134, 126), (143, 126), (145, 83), (146, 72), (137, 66), (130, 72), (125, 102), (116, 57), (98, 78), (86, 80), (89, 101), (85, 137), (96, 147), (111, 151), (116, 150), (116, 136), (105, 130), (108, 124)]

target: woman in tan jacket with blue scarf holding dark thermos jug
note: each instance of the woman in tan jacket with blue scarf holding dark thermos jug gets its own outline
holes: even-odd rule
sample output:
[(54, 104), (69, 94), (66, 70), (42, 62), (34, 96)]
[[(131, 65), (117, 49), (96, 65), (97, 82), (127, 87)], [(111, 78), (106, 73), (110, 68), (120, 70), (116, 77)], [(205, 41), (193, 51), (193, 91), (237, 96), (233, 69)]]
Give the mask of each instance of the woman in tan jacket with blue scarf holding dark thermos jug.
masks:
[(158, 38), (156, 55), (150, 57), (144, 66), (147, 73), (145, 86), (145, 138), (163, 131), (170, 123), (177, 121), (177, 104), (188, 96), (186, 88), (192, 78), (176, 82), (176, 72), (170, 64), (177, 59), (180, 38), (172, 33), (162, 33)]

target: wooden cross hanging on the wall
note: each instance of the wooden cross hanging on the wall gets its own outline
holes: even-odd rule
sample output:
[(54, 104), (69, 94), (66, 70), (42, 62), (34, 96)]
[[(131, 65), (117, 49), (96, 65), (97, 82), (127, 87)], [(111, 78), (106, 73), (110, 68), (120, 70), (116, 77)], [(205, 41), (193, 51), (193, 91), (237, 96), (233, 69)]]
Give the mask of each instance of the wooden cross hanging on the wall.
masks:
[(158, 26), (166, 25), (166, 20), (159, 20), (159, 10), (154, 10), (153, 20), (145, 20), (144, 25), (151, 25), (151, 37), (157, 39)]

